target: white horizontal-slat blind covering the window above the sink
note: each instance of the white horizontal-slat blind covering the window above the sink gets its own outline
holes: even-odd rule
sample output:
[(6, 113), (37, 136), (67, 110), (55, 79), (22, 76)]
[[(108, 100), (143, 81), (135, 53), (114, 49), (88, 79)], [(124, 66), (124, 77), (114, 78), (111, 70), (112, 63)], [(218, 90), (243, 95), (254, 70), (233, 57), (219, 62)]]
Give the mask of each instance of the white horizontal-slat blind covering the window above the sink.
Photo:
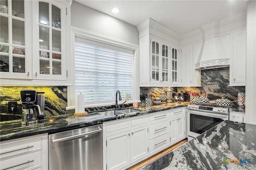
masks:
[(75, 38), (75, 89), (85, 103), (115, 101), (116, 91), (132, 100), (134, 51)]

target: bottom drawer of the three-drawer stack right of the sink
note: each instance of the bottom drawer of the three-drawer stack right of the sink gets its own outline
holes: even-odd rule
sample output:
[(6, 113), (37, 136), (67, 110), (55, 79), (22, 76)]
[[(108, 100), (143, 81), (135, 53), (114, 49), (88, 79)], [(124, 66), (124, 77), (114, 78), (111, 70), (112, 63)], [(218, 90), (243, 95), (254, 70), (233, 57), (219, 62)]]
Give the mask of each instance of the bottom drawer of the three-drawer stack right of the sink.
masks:
[(164, 148), (170, 143), (169, 133), (162, 134), (156, 138), (150, 139), (150, 154)]

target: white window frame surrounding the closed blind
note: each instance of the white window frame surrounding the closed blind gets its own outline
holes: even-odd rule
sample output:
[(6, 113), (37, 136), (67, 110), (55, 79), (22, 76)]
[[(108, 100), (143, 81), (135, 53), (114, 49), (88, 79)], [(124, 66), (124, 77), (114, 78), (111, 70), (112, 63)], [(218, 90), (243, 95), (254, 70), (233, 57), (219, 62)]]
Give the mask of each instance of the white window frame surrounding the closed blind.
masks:
[[(125, 49), (130, 49), (134, 51), (134, 63), (133, 63), (133, 77), (132, 77), (132, 99), (131, 101), (127, 101), (126, 103), (134, 103), (140, 102), (140, 87), (139, 87), (139, 45), (124, 42), (122, 40), (114, 39), (111, 37), (99, 35), (96, 33), (89, 32), (87, 30), (83, 30), (76, 27), (71, 27), (71, 34), (72, 34), (72, 46), (71, 46), (71, 60), (70, 67), (72, 68), (71, 71), (71, 83), (72, 86), (68, 86), (68, 107), (67, 110), (75, 108), (75, 54), (74, 54), (74, 42), (75, 37), (84, 38), (86, 40), (92, 40), (95, 42), (106, 43), (109, 45), (113, 45), (116, 47), (122, 47)], [(125, 96), (122, 96), (122, 101), (118, 101), (118, 105), (122, 104), (125, 100)], [(88, 107), (101, 107), (101, 106), (110, 106), (115, 105), (115, 101), (104, 102), (104, 103), (90, 103), (84, 104), (85, 108)]]

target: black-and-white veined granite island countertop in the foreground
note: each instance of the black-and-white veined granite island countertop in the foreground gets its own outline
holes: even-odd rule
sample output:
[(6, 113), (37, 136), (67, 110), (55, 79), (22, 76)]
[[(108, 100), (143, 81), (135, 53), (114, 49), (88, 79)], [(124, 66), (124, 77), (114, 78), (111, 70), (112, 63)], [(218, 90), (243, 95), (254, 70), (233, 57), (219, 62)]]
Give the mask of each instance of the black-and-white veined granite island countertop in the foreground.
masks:
[[(228, 163), (228, 161), (230, 161)], [(140, 170), (256, 169), (256, 125), (223, 121)]]

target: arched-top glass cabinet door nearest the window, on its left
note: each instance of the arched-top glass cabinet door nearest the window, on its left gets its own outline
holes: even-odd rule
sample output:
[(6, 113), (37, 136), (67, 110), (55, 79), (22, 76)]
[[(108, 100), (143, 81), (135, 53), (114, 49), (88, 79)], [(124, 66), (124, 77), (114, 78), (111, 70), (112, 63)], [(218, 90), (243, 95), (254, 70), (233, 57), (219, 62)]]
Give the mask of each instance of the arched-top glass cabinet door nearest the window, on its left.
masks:
[[(34, 78), (64, 80), (66, 77), (63, 73), (62, 46), (63, 35), (66, 34), (66, 6), (56, 1), (39, 1), (32, 4), (38, 14), (33, 16), (33, 22), (36, 22), (33, 35), (38, 42), (38, 47), (34, 49), (34, 57), (38, 58), (33, 61)], [(36, 67), (38, 63), (39, 67)]]

